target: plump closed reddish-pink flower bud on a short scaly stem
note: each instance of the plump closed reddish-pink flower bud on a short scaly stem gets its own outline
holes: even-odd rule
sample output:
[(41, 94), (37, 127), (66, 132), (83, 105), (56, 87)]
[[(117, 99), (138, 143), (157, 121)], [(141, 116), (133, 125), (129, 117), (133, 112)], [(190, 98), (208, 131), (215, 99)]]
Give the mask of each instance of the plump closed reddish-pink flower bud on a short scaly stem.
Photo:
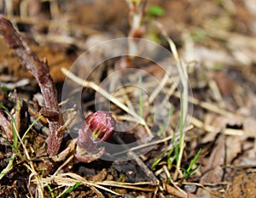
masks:
[(97, 145), (110, 139), (116, 121), (110, 112), (96, 111), (85, 118), (79, 130), (75, 157), (78, 161), (90, 162), (100, 158), (105, 150)]

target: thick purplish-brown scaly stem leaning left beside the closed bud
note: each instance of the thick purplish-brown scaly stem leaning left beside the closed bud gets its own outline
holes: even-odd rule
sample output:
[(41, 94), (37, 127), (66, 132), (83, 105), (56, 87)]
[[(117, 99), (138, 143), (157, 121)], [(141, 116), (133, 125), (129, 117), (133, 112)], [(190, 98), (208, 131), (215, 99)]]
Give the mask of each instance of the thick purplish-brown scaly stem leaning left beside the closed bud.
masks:
[[(28, 47), (24, 37), (15, 31), (14, 26), (0, 15), (0, 32), (15, 50), (15, 54), (20, 58), (22, 65), (36, 78), (41, 92), (44, 96), (45, 107), (43, 114), (49, 122), (48, 153), (50, 156), (58, 154), (61, 140), (63, 138), (63, 121), (61, 109), (58, 105), (55, 83), (49, 74), (49, 66), (46, 62), (40, 61), (38, 56)], [(59, 130), (60, 129), (60, 130)]]

